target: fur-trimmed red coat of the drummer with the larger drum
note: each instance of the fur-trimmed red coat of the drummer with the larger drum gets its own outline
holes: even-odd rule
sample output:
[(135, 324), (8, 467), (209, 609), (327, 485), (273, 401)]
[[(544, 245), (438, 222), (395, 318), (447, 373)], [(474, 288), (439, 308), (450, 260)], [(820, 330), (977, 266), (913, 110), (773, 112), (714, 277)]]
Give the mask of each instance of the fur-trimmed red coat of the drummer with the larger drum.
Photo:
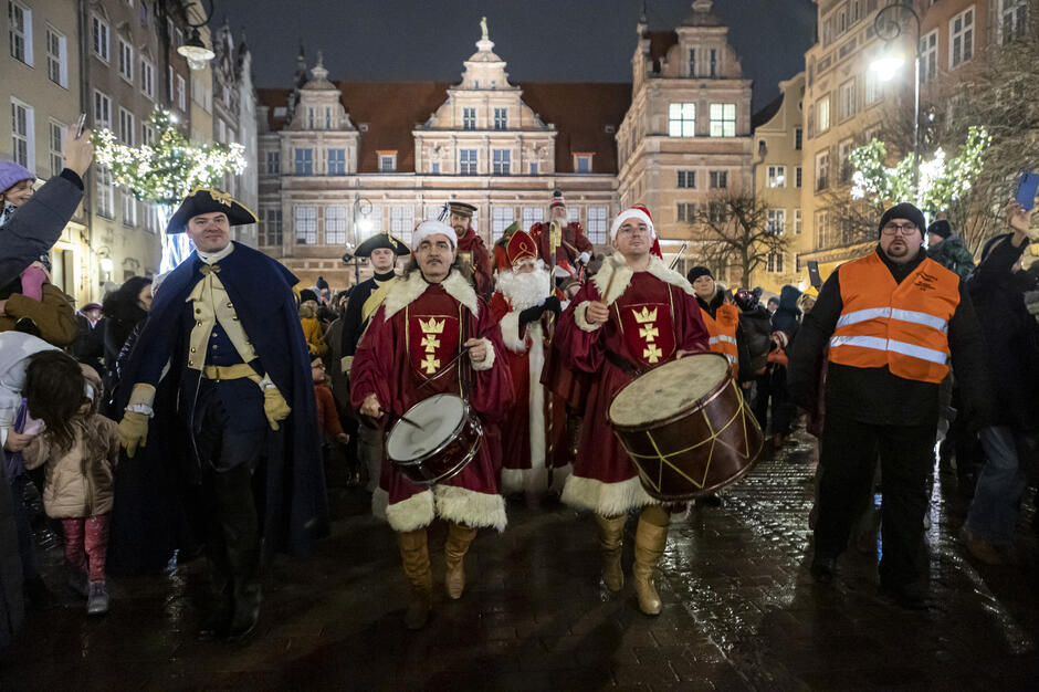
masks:
[[(646, 371), (673, 360), (679, 350), (706, 352), (709, 338), (684, 276), (655, 256), (644, 272), (632, 272), (621, 262), (619, 258), (604, 262), (563, 314), (555, 335), (570, 367), (590, 375), (580, 448), (563, 501), (604, 516), (659, 503), (643, 490), (638, 471), (610, 428), (610, 403), (632, 375), (607, 354)], [(604, 297), (607, 286), (609, 295)], [(587, 321), (590, 301), (609, 306), (606, 324)]]

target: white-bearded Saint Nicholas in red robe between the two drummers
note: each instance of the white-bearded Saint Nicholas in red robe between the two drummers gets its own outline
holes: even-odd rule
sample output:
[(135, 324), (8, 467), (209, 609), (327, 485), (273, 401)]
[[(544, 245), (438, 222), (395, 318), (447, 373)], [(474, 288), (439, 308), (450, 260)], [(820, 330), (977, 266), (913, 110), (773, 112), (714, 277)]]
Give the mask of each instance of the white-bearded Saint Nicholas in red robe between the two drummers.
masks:
[[(559, 298), (549, 295), (548, 270), (529, 233), (515, 229), (505, 247), (510, 269), (497, 274), (491, 314), (502, 327), (515, 399), (501, 427), (502, 492), (536, 496), (548, 490), (548, 392), (541, 384), (552, 321)], [(563, 486), (568, 470), (553, 473)]]

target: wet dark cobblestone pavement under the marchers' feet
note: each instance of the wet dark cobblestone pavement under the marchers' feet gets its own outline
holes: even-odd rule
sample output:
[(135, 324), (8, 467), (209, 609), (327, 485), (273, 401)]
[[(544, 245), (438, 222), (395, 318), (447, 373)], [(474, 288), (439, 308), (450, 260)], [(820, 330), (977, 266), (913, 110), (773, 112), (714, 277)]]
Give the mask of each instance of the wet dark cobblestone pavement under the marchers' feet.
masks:
[[(600, 586), (590, 517), (521, 501), (510, 504), (504, 535), (481, 532), (460, 601), (440, 586), (445, 530), (434, 526), (434, 615), (408, 632), (392, 534), (368, 516), (363, 493), (334, 489), (334, 536), (311, 559), (275, 565), (250, 643), (195, 639), (204, 594), (197, 560), (113, 580), (102, 618), (87, 619), (82, 601), (62, 594), (63, 607), (33, 614), (0, 654), (0, 689), (1035, 689), (1031, 528), (1019, 532), (1019, 567), (966, 559), (955, 537), (965, 501), (938, 475), (931, 610), (875, 598), (875, 549), (852, 548), (838, 581), (817, 586), (807, 568), (812, 454), (811, 438), (788, 440), (722, 506), (693, 507), (672, 527), (658, 618), (638, 611), (630, 585), (618, 596)], [(632, 517), (629, 575), (633, 530)], [(55, 588), (59, 559), (49, 553)]]

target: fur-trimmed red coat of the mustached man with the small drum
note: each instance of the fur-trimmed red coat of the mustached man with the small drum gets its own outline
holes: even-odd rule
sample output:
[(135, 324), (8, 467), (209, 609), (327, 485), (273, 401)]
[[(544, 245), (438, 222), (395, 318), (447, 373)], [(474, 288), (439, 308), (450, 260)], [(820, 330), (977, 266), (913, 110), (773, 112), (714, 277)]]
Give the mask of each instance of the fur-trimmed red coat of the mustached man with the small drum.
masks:
[[(423, 334), (419, 321), (429, 324), (431, 318), (443, 321), (443, 325), (437, 337), (427, 342), (429, 335)], [(459, 367), (469, 367), (468, 359), (463, 356), (458, 364), (448, 364), (464, 340), (463, 321), (470, 337), (482, 338), (487, 346), (486, 359), (472, 365), (469, 403), (482, 421), (496, 424), (513, 397), (501, 329), (486, 303), (454, 271), (440, 284), (427, 283), (418, 272), (397, 281), (357, 346), (350, 369), (353, 406), (359, 409), (374, 392), (384, 410), (400, 415), (433, 395), (459, 394)], [(386, 416), (380, 422), (386, 422)], [(491, 447), (484, 440), (461, 473), (432, 487), (416, 485), (384, 459), (372, 512), (385, 515), (400, 532), (427, 526), (435, 516), (504, 531), (505, 503), (498, 494)]]

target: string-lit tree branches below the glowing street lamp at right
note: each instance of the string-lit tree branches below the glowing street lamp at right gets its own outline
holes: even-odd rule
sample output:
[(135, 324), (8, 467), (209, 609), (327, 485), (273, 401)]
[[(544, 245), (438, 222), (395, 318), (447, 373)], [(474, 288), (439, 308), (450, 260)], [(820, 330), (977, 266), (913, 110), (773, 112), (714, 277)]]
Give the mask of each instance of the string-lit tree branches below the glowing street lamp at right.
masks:
[(893, 167), (885, 166), (888, 147), (874, 138), (848, 156), (854, 169), (851, 197), (883, 206), (915, 197), (920, 210), (934, 216), (969, 193), (985, 167), (985, 153), (991, 139), (984, 128), (970, 127), (956, 156), (947, 158), (944, 150), (937, 149), (932, 159), (921, 162), (920, 192), (914, 196), (915, 156), (910, 153)]

